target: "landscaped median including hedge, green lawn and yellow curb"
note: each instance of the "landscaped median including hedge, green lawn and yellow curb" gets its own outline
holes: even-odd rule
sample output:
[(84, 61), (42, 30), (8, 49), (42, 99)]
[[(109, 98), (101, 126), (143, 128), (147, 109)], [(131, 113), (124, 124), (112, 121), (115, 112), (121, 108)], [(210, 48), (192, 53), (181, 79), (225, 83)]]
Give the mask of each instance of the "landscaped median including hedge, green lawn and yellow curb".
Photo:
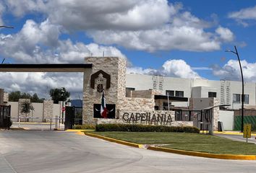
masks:
[(174, 154), (215, 159), (256, 160), (256, 145), (254, 143), (200, 134), (200, 130), (195, 127), (103, 124), (96, 125), (95, 130), (72, 131), (76, 131), (80, 135), (85, 134), (127, 146)]

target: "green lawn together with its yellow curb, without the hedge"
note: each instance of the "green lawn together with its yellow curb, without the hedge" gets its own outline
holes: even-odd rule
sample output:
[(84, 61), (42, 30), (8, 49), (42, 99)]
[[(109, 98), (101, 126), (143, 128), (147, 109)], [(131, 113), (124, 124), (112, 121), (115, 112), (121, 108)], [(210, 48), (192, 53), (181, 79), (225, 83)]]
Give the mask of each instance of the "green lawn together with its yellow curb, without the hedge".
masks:
[[(128, 146), (165, 151), (174, 154), (201, 156), (215, 159), (256, 160), (256, 145), (231, 141), (218, 136), (197, 133), (161, 132), (85, 132), (87, 136)], [(128, 143), (132, 143), (129, 145)], [(140, 143), (140, 144), (137, 144)]]

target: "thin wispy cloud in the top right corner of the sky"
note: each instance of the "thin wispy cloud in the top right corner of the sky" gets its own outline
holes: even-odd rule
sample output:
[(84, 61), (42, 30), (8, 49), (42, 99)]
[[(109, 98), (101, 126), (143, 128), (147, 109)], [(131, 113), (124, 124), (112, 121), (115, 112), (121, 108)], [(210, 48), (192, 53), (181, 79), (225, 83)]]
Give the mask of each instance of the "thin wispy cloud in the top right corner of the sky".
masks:
[(247, 27), (249, 25), (247, 20), (256, 20), (256, 6), (241, 9), (238, 12), (231, 12), (229, 18), (236, 19), (237, 22)]

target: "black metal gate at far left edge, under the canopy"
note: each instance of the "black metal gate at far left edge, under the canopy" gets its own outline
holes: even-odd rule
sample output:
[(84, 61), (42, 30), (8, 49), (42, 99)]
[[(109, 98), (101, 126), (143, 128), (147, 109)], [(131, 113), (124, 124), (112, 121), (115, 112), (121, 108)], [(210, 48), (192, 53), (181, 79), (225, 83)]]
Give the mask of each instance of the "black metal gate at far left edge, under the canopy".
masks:
[(11, 106), (0, 105), (0, 128), (9, 129), (11, 125)]

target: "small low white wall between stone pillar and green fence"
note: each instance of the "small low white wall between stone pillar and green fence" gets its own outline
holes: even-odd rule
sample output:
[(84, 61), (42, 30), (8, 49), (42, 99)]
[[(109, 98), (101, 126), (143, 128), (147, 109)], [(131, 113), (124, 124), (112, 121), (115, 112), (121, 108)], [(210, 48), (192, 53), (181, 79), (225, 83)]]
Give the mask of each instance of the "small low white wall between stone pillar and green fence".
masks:
[(234, 129), (234, 111), (220, 110), (219, 121), (223, 123), (223, 130)]

